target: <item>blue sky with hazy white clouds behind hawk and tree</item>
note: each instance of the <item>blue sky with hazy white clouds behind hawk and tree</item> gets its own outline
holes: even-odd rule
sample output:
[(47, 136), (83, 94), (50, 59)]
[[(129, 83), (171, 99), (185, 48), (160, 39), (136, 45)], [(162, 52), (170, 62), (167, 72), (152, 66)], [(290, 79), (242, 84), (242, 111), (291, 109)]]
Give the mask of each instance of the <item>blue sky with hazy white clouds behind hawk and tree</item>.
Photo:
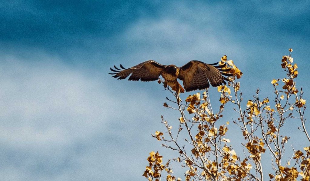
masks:
[[(162, 107), (169, 94), (156, 82), (110, 78), (109, 67), (120, 63), (182, 66), (227, 55), (244, 73), (247, 100), (257, 87), (270, 95), (271, 80), (284, 75), (281, 57), (293, 48), (309, 100), (309, 8), (305, 1), (0, 2), (0, 177), (144, 180), (149, 152), (171, 156), (151, 137), (164, 130), (161, 115), (179, 117)], [(291, 143), (303, 141), (290, 129), (299, 124), (287, 122)], [(242, 135), (229, 129), (241, 154)]]

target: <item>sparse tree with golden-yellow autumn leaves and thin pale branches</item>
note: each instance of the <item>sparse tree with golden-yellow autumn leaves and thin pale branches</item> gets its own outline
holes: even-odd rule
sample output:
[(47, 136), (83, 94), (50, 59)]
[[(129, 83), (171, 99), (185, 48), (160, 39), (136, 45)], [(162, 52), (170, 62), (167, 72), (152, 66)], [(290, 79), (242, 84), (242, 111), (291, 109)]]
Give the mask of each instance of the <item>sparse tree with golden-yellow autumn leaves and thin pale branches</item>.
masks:
[[(291, 52), (283, 56), (281, 67), (286, 73), (282, 79), (273, 79), (273, 101), (271, 105), (268, 98), (259, 98), (260, 90), (252, 100), (244, 102), (242, 93), (239, 91), (241, 71), (234, 65), (232, 60), (227, 61), (223, 56), (219, 62), (226, 63), (225, 68), (232, 68), (230, 73), (231, 82), (228, 85), (218, 86), (220, 92), (219, 107), (212, 107), (208, 91), (190, 95), (184, 103), (166, 98), (164, 106), (179, 112), (179, 127), (172, 129), (172, 126), (162, 116), (162, 124), (166, 132), (156, 131), (154, 138), (162, 142), (162, 146), (175, 151), (175, 158), (163, 164), (162, 156), (159, 153), (151, 152), (147, 158), (149, 165), (146, 166), (143, 176), (148, 180), (175, 181), (181, 180), (173, 176), (171, 161), (179, 162), (186, 167), (185, 180), (310, 180), (310, 148), (294, 150), (290, 159), (283, 158), (286, 150), (286, 143), (290, 137), (281, 132), (286, 126), (287, 120), (299, 120), (300, 131), (310, 138), (305, 127), (306, 101), (303, 99), (303, 90), (298, 88), (295, 78), (298, 75), (297, 64), (293, 65)], [(159, 81), (161, 83), (161, 81)], [(283, 86), (280, 84), (283, 84)], [(167, 88), (175, 100), (178, 95)], [(176, 105), (175, 107), (170, 106)], [(244, 137), (242, 144), (244, 156), (236, 153), (230, 140), (226, 137), (229, 122), (223, 124), (223, 112), (225, 105), (232, 104), (238, 117), (233, 118), (233, 123), (240, 127), (240, 134)], [(191, 119), (188, 118), (191, 117)], [(182, 133), (182, 134), (180, 134)], [(182, 138), (181, 138), (182, 135)], [(185, 137), (183, 137), (185, 135)], [(308, 145), (307, 145), (308, 144)], [(266, 177), (263, 175), (261, 156), (269, 153), (273, 173)], [(290, 163), (292, 162), (292, 163)]]

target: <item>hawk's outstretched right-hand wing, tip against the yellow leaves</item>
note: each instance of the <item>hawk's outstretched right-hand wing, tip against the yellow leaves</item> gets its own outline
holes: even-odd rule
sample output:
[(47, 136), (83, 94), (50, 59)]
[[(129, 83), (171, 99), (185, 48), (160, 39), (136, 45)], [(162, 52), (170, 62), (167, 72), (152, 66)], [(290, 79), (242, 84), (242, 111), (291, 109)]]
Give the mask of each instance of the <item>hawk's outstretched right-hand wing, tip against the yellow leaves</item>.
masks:
[[(214, 66), (214, 64), (206, 64), (201, 61), (192, 60), (180, 67), (179, 79), (183, 80), (184, 89), (186, 91), (202, 90), (209, 88), (210, 84), (212, 86), (219, 86), (225, 81), (229, 81), (224, 76), (232, 76), (232, 74), (227, 74), (230, 69), (222, 69), (224, 65)], [(209, 80), (209, 81), (208, 81)], [(210, 82), (210, 84), (209, 84)]]

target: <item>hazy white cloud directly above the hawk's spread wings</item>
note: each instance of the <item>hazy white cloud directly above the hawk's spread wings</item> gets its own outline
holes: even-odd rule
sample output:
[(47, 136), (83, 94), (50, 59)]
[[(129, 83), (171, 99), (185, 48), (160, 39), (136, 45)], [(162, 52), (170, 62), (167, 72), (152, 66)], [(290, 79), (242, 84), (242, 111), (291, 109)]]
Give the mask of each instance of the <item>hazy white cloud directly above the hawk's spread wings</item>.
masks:
[(158, 17), (140, 16), (120, 34), (99, 42), (116, 46), (118, 52), (109, 51), (105, 56), (124, 66), (150, 59), (182, 66), (190, 60), (214, 63), (223, 55), (242, 57), (244, 47), (225, 25), (232, 16), (226, 8), (224, 4), (171, 2), (158, 11)]

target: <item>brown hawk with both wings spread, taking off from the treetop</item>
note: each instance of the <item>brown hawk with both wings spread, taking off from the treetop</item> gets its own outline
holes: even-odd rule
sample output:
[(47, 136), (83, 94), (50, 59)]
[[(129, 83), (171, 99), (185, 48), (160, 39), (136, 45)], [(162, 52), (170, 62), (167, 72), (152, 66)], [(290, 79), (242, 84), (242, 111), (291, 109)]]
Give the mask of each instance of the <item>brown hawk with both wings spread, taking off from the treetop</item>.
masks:
[[(122, 69), (114, 65), (115, 69), (110, 68), (114, 73), (109, 74), (117, 79), (125, 79), (131, 74), (128, 80), (145, 82), (158, 80), (161, 75), (165, 80), (165, 87), (170, 86), (173, 91), (179, 94), (184, 93), (184, 89), (188, 92), (207, 89), (210, 84), (213, 87), (226, 84), (225, 81), (229, 80), (224, 76), (232, 76), (232, 74), (225, 73), (230, 68), (222, 69), (226, 64), (215, 66), (217, 64), (206, 64), (202, 61), (192, 60), (182, 67), (177, 67), (175, 65), (161, 65), (156, 61), (149, 60), (128, 69), (125, 69), (122, 64), (120, 65)], [(177, 81), (178, 78), (183, 81), (184, 88)]]

